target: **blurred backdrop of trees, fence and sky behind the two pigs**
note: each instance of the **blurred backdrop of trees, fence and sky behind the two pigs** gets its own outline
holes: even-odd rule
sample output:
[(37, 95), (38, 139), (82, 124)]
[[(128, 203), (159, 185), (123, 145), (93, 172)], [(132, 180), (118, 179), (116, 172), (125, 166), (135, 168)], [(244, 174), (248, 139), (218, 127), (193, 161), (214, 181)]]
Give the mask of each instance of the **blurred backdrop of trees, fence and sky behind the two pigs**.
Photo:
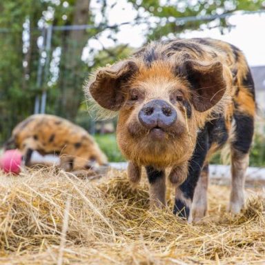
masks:
[(123, 161), (116, 120), (95, 121), (84, 81), (148, 41), (213, 37), (238, 46), (251, 65), (259, 106), (251, 165), (264, 166), (264, 28), (262, 0), (0, 1), (0, 144), (19, 121), (49, 113), (83, 126), (110, 161)]

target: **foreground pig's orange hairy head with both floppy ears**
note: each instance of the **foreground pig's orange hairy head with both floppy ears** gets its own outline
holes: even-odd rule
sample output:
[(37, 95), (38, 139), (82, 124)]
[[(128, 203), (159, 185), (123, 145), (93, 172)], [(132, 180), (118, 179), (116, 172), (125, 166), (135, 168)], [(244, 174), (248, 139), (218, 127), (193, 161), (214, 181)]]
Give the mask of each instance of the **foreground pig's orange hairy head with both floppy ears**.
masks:
[(165, 168), (193, 154), (198, 119), (226, 90), (222, 63), (141, 59), (101, 68), (90, 95), (108, 110), (119, 111), (117, 141), (134, 164)]

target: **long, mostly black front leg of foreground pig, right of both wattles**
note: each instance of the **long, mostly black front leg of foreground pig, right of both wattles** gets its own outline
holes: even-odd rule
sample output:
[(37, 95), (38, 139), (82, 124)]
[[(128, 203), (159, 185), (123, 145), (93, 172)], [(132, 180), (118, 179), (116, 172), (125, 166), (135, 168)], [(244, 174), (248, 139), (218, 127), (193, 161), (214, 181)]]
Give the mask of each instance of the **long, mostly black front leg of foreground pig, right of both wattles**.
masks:
[(197, 135), (197, 143), (193, 156), (189, 161), (188, 177), (179, 187), (176, 188), (175, 193), (175, 206), (173, 213), (179, 217), (188, 219), (192, 222), (193, 217), (191, 214), (191, 205), (193, 202), (193, 195), (199, 175), (201, 175), (204, 160), (208, 152), (208, 132), (207, 128), (202, 130)]

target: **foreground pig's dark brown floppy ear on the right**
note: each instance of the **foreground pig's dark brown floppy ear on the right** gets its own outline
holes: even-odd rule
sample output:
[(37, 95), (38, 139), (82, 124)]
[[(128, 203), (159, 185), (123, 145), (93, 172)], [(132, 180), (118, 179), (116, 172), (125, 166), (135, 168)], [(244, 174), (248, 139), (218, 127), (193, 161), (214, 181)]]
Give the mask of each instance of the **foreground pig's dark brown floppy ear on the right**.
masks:
[(226, 92), (223, 66), (219, 61), (210, 64), (185, 61), (179, 70), (191, 85), (193, 106), (199, 112), (212, 108)]

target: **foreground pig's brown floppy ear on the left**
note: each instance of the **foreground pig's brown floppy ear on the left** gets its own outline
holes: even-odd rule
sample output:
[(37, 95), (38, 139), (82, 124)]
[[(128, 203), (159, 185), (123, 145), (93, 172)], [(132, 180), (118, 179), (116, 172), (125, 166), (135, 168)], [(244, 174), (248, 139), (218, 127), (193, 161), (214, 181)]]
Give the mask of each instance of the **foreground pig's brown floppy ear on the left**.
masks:
[(134, 61), (120, 61), (113, 66), (101, 68), (89, 86), (90, 95), (101, 107), (119, 110), (124, 102), (121, 84), (128, 81), (137, 70)]

